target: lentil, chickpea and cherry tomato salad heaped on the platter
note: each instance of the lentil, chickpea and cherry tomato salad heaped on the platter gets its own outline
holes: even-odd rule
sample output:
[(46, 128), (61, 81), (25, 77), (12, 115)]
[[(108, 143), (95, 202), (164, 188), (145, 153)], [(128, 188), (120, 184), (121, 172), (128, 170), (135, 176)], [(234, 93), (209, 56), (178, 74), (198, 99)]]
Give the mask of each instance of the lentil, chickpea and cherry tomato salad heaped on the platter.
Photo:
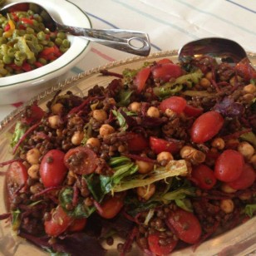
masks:
[(214, 58), (145, 62), (27, 106), (6, 171), (18, 236), (50, 254), (166, 255), (256, 214), (256, 71)]

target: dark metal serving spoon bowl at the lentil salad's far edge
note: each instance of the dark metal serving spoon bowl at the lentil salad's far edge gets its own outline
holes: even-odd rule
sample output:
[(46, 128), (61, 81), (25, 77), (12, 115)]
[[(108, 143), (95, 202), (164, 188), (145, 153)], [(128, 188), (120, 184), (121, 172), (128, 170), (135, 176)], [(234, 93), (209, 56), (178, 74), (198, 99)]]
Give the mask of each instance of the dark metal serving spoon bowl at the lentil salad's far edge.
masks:
[(181, 47), (179, 61), (184, 61), (186, 57), (203, 55), (214, 57), (217, 62), (229, 62), (234, 65), (242, 60), (249, 60), (239, 43), (226, 38), (209, 37), (189, 42)]

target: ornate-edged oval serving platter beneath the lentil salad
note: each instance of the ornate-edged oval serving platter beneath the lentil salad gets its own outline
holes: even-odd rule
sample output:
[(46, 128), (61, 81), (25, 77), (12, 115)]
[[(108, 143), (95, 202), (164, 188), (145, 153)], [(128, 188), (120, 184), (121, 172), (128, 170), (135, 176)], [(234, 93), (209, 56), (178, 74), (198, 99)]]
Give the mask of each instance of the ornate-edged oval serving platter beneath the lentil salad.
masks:
[[(7, 116), (0, 123), (0, 162), (12, 159), (12, 149), (10, 141), (12, 137), (12, 130), (16, 125), (17, 120), (20, 118), (25, 106), (31, 104), (32, 101), (37, 100), (39, 105), (45, 109), (46, 103), (49, 101), (55, 92), (62, 90), (62, 93), (66, 91), (72, 91), (78, 96), (86, 96), (87, 91), (95, 86), (106, 86), (113, 76), (101, 76), (100, 71), (107, 69), (113, 72), (121, 72), (126, 67), (137, 68), (144, 62), (157, 61), (160, 58), (169, 57), (173, 62), (178, 62), (177, 51), (168, 52), (156, 52), (150, 55), (150, 57), (133, 57), (119, 62), (111, 62), (106, 66), (96, 67), (90, 71), (85, 71), (78, 76), (73, 76), (70, 79), (63, 81), (62, 83), (52, 86), (47, 91), (44, 91), (40, 95), (34, 97), (27, 104), (17, 108), (9, 116)], [(256, 54), (249, 53), (250, 61), (256, 66)], [(0, 169), (0, 214), (7, 213), (7, 194), (5, 190), (5, 171), (7, 166)], [(179, 255), (196, 255), (196, 256), (244, 256), (244, 255), (256, 255), (256, 217), (250, 219), (244, 224), (239, 225), (237, 228), (221, 234), (214, 239), (209, 239), (195, 250), (190, 248), (182, 249), (172, 253), (173, 256)], [(106, 255), (116, 256), (116, 244), (120, 243), (120, 239), (115, 239), (115, 244), (107, 246), (103, 244), (104, 248), (108, 249)], [(42, 249), (37, 248), (27, 240), (17, 237), (12, 234), (11, 224), (7, 220), (0, 221), (0, 255), (1, 256), (23, 256), (23, 255), (49, 255)], [(86, 254), (85, 254), (86, 255)], [(128, 256), (140, 256), (143, 252), (134, 244), (130, 254)]]

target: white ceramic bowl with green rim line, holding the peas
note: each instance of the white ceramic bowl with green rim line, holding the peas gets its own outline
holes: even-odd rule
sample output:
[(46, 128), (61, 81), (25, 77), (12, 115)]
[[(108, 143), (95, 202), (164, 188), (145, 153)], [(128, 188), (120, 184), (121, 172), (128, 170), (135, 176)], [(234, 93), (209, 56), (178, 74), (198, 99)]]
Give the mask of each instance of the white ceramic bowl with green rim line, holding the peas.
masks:
[[(9, 0), (7, 3), (19, 2)], [(26, 0), (37, 2), (47, 9), (57, 22), (74, 26), (91, 28), (91, 21), (86, 13), (74, 3), (66, 0)], [(66, 73), (85, 57), (89, 42), (82, 37), (68, 36), (71, 47), (56, 61), (33, 71), (0, 78), (0, 104), (27, 101), (32, 96), (44, 91), (48, 86), (63, 81)]]

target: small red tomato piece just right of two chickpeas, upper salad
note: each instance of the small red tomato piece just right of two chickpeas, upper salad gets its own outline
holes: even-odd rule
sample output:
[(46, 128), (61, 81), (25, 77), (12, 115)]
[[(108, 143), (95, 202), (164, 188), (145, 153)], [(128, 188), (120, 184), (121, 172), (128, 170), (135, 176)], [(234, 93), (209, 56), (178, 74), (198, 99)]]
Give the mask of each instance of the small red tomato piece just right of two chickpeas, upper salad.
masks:
[(184, 98), (180, 96), (171, 96), (170, 98), (165, 99), (160, 103), (160, 111), (165, 112), (166, 109), (170, 109), (171, 111), (175, 111), (176, 113), (180, 114), (182, 111), (185, 110), (185, 106), (187, 102)]

